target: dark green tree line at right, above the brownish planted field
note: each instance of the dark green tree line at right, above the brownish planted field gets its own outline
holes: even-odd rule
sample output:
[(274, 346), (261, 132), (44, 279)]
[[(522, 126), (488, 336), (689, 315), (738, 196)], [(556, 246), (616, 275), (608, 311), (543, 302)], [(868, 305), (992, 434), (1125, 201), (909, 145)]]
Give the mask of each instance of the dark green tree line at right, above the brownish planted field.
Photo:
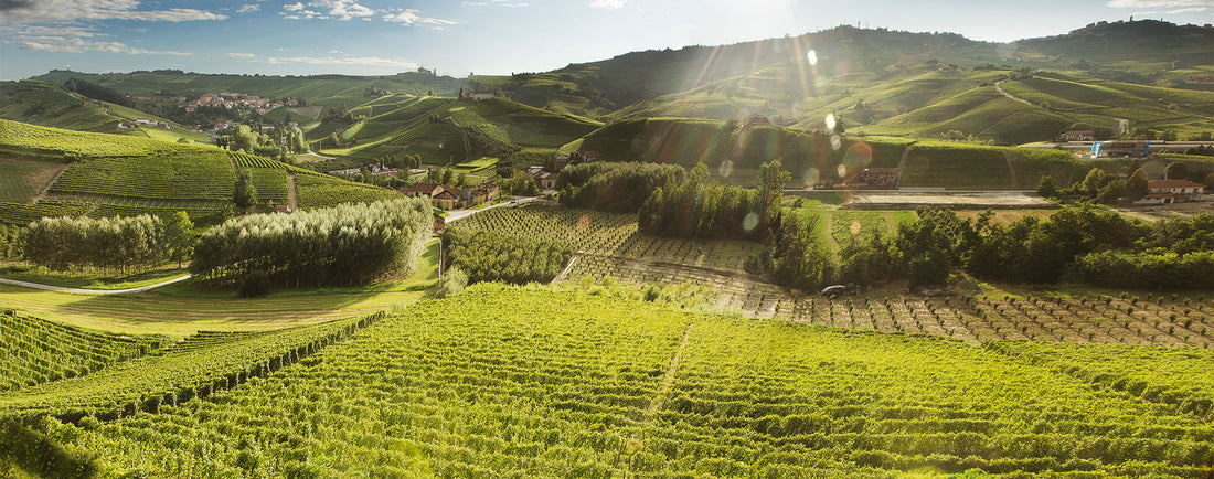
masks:
[(1146, 226), (1084, 206), (1003, 226), (989, 212), (976, 219), (941, 209), (918, 213), (894, 238), (873, 234), (844, 246), (836, 281), (907, 279), (918, 286), (943, 284), (951, 272), (963, 270), (1014, 284), (1214, 287), (1214, 215)]

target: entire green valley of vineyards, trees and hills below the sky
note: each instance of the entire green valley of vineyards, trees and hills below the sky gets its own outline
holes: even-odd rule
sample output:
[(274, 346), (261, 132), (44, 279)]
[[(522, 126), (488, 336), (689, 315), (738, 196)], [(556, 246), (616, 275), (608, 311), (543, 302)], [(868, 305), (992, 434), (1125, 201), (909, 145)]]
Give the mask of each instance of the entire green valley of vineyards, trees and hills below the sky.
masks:
[(1209, 45), (2, 81), (0, 477), (1210, 477)]

